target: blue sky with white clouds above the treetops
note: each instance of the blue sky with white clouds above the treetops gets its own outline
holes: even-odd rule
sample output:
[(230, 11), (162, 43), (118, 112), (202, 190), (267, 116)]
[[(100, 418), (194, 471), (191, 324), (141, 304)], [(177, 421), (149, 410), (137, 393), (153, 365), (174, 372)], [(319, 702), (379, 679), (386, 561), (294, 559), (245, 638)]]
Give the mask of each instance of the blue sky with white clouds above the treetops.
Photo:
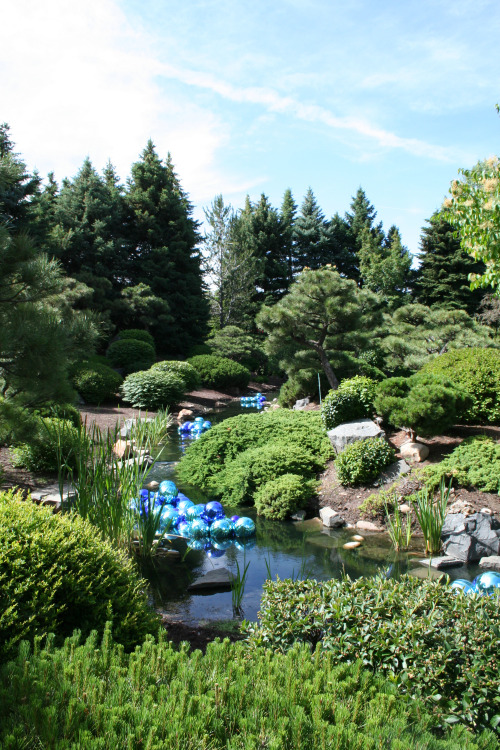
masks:
[(221, 193), (325, 216), (362, 187), (418, 253), (460, 168), (500, 153), (498, 0), (16, 0), (0, 122), (60, 182), (153, 140), (203, 219)]

